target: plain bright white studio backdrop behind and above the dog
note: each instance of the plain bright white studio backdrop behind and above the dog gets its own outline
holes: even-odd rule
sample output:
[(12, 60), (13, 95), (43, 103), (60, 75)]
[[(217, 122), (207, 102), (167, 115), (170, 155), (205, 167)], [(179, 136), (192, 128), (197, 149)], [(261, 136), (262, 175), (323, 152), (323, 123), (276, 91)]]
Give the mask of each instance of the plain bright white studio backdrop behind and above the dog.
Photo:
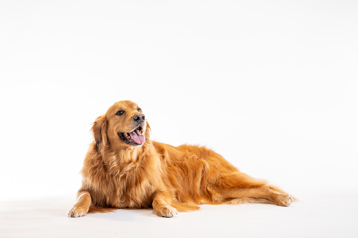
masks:
[(357, 1), (1, 1), (0, 22), (1, 201), (74, 199), (119, 100), (301, 200), (358, 194)]

